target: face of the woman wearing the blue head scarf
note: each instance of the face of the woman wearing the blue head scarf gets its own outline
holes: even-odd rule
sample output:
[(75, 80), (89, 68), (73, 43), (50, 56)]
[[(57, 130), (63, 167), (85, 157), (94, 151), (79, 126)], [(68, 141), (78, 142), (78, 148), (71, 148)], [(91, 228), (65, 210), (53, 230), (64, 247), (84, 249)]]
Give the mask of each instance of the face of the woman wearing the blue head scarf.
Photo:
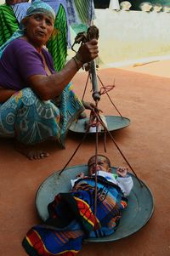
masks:
[(33, 14), (24, 25), (26, 37), (35, 47), (45, 45), (54, 30), (54, 20), (46, 14)]

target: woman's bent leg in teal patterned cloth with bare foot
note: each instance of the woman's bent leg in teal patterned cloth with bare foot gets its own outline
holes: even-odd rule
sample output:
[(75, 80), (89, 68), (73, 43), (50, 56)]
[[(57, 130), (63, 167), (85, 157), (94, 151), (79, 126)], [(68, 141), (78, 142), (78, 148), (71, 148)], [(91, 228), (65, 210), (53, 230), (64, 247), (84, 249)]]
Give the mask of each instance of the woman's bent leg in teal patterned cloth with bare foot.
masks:
[(0, 136), (13, 137), (16, 150), (29, 159), (48, 156), (39, 143), (59, 134), (58, 121), (59, 110), (55, 105), (39, 100), (30, 88), (0, 105)]

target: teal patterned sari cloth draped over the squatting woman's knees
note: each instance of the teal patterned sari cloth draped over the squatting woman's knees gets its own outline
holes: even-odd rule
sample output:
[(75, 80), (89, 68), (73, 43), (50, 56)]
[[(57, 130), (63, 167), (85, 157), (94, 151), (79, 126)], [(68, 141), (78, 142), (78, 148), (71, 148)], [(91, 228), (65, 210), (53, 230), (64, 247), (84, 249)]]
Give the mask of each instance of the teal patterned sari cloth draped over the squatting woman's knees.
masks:
[(65, 135), (83, 110), (71, 84), (56, 101), (40, 100), (31, 88), (24, 88), (0, 104), (0, 137), (27, 145), (54, 139), (65, 147)]

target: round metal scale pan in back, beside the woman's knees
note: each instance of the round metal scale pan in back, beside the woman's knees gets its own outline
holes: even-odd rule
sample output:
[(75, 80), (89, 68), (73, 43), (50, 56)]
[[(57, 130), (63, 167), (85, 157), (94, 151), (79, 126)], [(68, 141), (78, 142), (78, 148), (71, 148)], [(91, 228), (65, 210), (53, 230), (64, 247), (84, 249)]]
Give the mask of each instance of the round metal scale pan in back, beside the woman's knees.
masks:
[[(105, 116), (105, 119), (107, 122), (107, 128), (110, 132), (126, 128), (130, 124), (130, 119), (127, 117)], [(85, 133), (87, 122), (88, 118), (78, 119), (76, 122), (72, 123), (70, 131), (80, 134)], [(103, 131), (101, 130), (100, 132), (102, 133)], [(92, 134), (94, 132), (89, 130), (88, 133)]]

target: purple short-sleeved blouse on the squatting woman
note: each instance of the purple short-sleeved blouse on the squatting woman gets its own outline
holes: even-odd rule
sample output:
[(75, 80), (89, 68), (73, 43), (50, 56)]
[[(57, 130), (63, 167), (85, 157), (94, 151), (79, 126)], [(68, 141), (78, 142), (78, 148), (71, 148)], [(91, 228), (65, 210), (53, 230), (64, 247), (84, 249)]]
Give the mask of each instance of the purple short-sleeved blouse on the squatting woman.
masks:
[[(54, 63), (51, 55), (44, 48), (42, 48), (42, 53), (48, 69), (54, 73)], [(0, 86), (16, 90), (30, 87), (28, 78), (33, 75), (48, 76), (42, 56), (26, 40), (15, 39), (5, 48), (0, 60)]]

